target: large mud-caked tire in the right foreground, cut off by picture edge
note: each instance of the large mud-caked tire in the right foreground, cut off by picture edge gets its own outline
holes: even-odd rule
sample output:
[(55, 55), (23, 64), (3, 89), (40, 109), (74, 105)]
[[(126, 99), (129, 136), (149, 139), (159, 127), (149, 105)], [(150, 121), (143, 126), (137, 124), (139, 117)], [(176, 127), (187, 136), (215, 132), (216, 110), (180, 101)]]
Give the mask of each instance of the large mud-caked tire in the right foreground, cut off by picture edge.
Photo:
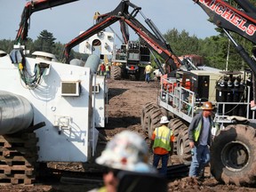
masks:
[(216, 180), (236, 186), (256, 184), (256, 132), (251, 126), (230, 124), (211, 147), (211, 172)]

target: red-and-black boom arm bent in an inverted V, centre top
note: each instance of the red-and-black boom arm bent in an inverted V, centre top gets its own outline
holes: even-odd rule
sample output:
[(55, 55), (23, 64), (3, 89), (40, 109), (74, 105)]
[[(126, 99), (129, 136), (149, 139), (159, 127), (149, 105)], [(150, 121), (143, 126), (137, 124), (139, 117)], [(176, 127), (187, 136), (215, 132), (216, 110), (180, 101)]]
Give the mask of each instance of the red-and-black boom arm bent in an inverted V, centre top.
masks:
[[(129, 12), (129, 8), (132, 8), (132, 12)], [(145, 28), (139, 20), (136, 20), (137, 14), (140, 12), (141, 8), (135, 4), (132, 4), (128, 0), (123, 0), (120, 4), (117, 5), (116, 9), (113, 12), (108, 12), (106, 14), (101, 14), (97, 18), (97, 23), (92, 26), (92, 28), (88, 28), (84, 33), (77, 36), (71, 42), (66, 44), (65, 46), (65, 62), (69, 61), (69, 54), (73, 47), (77, 44), (82, 43), (85, 39), (88, 39), (90, 36), (97, 34), (100, 30), (104, 28), (108, 28), (108, 26), (112, 25), (116, 21), (120, 21), (121, 32), (123, 33), (124, 40), (128, 38), (127, 30), (125, 29), (125, 25), (128, 25), (130, 28), (134, 30), (134, 32), (140, 36), (141, 39), (145, 41), (148, 45), (148, 48), (151, 51), (156, 52), (160, 55), (165, 63), (170, 67), (170, 71), (173, 71), (177, 68), (180, 68), (181, 61), (179, 58), (172, 52), (170, 44), (168, 44), (164, 36), (162, 36), (156, 26), (153, 24), (151, 20), (146, 19), (146, 23), (151, 29), (150, 32), (148, 28)], [(144, 16), (144, 15), (143, 15)], [(145, 17), (144, 17), (145, 18)], [(158, 66), (162, 68), (162, 66)], [(164, 72), (163, 68), (162, 71)]]

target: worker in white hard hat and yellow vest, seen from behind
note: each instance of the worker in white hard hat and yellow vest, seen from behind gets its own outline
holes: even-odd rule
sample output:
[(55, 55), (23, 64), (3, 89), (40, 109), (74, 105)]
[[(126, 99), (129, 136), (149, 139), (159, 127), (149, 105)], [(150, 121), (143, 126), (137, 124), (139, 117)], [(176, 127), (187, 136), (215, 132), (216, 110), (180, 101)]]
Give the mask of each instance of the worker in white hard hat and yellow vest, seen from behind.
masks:
[(157, 127), (151, 137), (151, 148), (153, 149), (153, 165), (157, 168), (159, 161), (162, 161), (160, 174), (166, 176), (169, 155), (172, 155), (174, 136), (172, 130), (168, 128), (169, 120), (167, 116), (162, 116), (160, 127)]

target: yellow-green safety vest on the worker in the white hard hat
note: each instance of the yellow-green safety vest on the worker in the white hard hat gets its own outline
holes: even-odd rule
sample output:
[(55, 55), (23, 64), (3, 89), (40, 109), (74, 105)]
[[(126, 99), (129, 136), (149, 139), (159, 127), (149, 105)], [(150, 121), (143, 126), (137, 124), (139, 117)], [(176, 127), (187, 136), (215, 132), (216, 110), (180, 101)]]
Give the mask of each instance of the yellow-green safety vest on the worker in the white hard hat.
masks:
[(153, 148), (164, 148), (167, 151), (171, 151), (170, 140), (172, 136), (172, 130), (165, 126), (162, 129), (160, 128), (161, 127), (156, 128), (156, 138)]

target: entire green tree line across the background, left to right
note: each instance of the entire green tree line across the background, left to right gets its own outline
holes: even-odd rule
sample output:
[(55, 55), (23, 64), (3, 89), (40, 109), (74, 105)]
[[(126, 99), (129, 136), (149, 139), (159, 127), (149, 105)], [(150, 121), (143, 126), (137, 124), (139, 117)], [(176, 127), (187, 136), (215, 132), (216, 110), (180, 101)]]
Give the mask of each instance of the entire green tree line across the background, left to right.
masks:
[[(219, 32), (219, 35), (202, 39), (195, 35), (189, 35), (186, 30), (178, 31), (178, 29), (172, 28), (164, 34), (164, 37), (177, 56), (197, 54), (204, 58), (204, 64), (206, 66), (212, 68), (225, 69), (227, 61), (228, 70), (243, 70), (244, 68), (248, 68), (244, 60), (236, 52), (235, 46), (229, 42), (228, 37), (221, 33), (219, 28), (216, 28), (216, 30)], [(253, 44), (251, 42), (235, 33), (232, 33), (232, 36), (234, 36), (238, 44), (244, 46), (247, 52), (250, 53), (252, 51)], [(43, 30), (35, 41), (28, 38), (25, 45), (30, 53), (35, 51), (51, 52), (58, 60), (62, 60), (65, 44), (55, 41), (56, 38), (51, 32)], [(13, 49), (13, 44), (14, 40), (0, 40), (0, 50), (9, 53)], [(86, 60), (87, 57), (88, 55), (75, 52), (74, 50), (70, 52), (71, 60), (74, 58)], [(161, 60), (159, 57), (158, 59)], [(164, 62), (164, 60), (162, 61)], [(152, 63), (154, 63), (153, 60)]]

